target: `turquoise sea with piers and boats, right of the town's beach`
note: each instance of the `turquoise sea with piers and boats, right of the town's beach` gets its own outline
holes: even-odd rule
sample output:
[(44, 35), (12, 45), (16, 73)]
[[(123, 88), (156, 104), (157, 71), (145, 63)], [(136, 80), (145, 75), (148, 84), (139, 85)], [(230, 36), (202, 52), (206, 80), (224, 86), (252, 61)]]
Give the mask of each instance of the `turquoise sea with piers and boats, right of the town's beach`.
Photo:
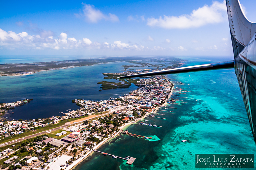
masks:
[[(193, 59), (186, 65), (209, 63)], [(152, 140), (119, 135), (97, 150), (116, 156), (136, 158), (132, 166), (125, 160), (112, 159), (92, 153), (75, 170), (162, 170), (195, 169), (195, 154), (256, 152), (251, 128), (245, 111), (234, 69), (168, 75), (175, 87), (190, 91), (172, 98), (188, 102), (173, 113), (147, 117), (147, 123), (163, 126), (155, 128), (132, 124), (125, 129), (130, 133), (153, 137)], [(180, 84), (182, 82), (183, 84)], [(197, 101), (196, 101), (197, 100)], [(186, 138), (188, 142), (182, 143)]]

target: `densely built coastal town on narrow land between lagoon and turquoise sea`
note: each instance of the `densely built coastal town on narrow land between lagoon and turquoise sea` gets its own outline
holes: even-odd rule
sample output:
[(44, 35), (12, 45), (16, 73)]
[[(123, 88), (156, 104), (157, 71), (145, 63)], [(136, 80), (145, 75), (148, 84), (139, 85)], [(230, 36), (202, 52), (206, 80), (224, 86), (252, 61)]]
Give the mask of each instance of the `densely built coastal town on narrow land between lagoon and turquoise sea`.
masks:
[[(0, 122), (2, 140), (56, 126), (18, 143), (13, 140), (9, 145), (8, 141), (6, 145), (0, 144), (1, 169), (70, 169), (109, 138), (120, 134), (127, 124), (154, 116), (170, 98), (173, 87), (164, 76), (136, 79), (136, 84), (136, 90), (115, 99), (72, 100), (80, 108), (63, 113), (64, 116)], [(61, 123), (66, 126), (57, 128)]]

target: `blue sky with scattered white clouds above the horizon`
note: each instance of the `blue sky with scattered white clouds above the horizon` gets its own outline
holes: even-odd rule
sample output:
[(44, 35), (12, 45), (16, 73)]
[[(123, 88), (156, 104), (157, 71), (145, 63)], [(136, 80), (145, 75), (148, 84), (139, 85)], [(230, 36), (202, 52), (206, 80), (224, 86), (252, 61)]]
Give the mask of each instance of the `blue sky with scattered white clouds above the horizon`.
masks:
[[(256, 22), (256, 1), (240, 0)], [(233, 56), (225, 1), (1, 1), (0, 55)]]

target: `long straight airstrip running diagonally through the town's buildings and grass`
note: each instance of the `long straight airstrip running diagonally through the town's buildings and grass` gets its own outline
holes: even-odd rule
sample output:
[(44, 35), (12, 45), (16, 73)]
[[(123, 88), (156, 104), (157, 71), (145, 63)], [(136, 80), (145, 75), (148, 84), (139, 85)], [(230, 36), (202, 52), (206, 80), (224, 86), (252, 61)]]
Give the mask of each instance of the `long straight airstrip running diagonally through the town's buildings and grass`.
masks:
[[(115, 109), (113, 109), (113, 110), (109, 110), (108, 113), (105, 113), (105, 114), (102, 114), (102, 115), (108, 115), (109, 113), (113, 113), (114, 111), (117, 112), (117, 111), (120, 111), (120, 110), (123, 110), (123, 109), (125, 109), (125, 106), (121, 106), (121, 107), (119, 107), (119, 108), (115, 108)], [(102, 116), (102, 115), (96, 115), (96, 116), (92, 116), (92, 117), (89, 116), (89, 117), (87, 117), (87, 118), (77, 119), (77, 120), (76, 120), (76, 124), (79, 123), (79, 122), (83, 122), (83, 121), (85, 121), (85, 120), (90, 120), (90, 119), (94, 119), (94, 118), (100, 117), (100, 116)], [(59, 126), (59, 127), (56, 127), (56, 128), (52, 128), (52, 129), (48, 129), (48, 130), (45, 130), (45, 131), (42, 131), (42, 132), (39, 132), (39, 133), (36, 133), (36, 134), (33, 134), (33, 135), (29, 135), (29, 136), (26, 136), (26, 137), (21, 137), (21, 138), (19, 138), (19, 139), (14, 139), (14, 140), (12, 140), (12, 141), (10, 141), (10, 142), (6, 142), (6, 143), (4, 143), (4, 144), (0, 144), (0, 147), (6, 146), (6, 145), (10, 145), (10, 144), (15, 144), (15, 143), (17, 143), (17, 142), (21, 142), (21, 141), (26, 140), (26, 139), (28, 139), (28, 138), (36, 137), (36, 136), (38, 136), (38, 135), (44, 135), (44, 134), (49, 133), (49, 132), (51, 132), (51, 131), (55, 131), (55, 130), (58, 130), (58, 129), (66, 128), (66, 127), (70, 126), (70, 125), (72, 124), (72, 122), (74, 122), (74, 121), (67, 122), (67, 123), (65, 123), (65, 124), (62, 125), (62, 126)]]

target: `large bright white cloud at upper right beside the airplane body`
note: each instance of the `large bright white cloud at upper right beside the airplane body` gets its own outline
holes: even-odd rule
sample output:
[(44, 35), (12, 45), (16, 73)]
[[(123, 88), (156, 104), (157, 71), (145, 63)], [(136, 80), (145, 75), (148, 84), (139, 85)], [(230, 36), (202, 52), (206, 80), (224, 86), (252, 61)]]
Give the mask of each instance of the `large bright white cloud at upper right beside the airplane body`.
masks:
[(213, 1), (211, 6), (204, 5), (201, 8), (193, 10), (190, 15), (181, 16), (160, 16), (157, 18), (148, 18), (148, 26), (157, 26), (167, 29), (183, 29), (200, 27), (206, 24), (220, 23), (226, 17), (226, 2), (219, 3)]

